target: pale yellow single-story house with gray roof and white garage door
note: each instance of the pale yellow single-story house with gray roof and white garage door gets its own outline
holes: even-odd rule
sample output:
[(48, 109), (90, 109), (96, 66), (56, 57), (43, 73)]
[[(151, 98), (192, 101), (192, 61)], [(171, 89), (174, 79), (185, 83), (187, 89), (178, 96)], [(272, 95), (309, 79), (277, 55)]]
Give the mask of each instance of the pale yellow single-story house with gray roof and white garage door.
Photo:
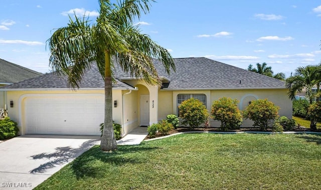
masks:
[[(292, 117), (292, 102), (285, 82), (207, 58), (174, 59), (177, 72), (167, 75), (162, 63), (154, 60), (162, 86), (146, 85), (116, 67), (113, 84), (113, 120), (122, 126), (122, 135), (138, 126), (147, 126), (178, 115), (178, 106), (191, 97), (211, 104), (223, 96), (238, 99), (239, 108), (253, 100), (265, 99), (280, 107), (279, 115)], [(104, 81), (95, 65), (83, 77), (80, 89), (67, 87), (66, 77), (53, 73), (1, 88), (7, 92), (8, 113), (18, 122), (21, 134), (100, 135), (104, 120)], [(219, 127), (220, 122), (211, 121)], [(252, 122), (245, 120), (243, 127)]]

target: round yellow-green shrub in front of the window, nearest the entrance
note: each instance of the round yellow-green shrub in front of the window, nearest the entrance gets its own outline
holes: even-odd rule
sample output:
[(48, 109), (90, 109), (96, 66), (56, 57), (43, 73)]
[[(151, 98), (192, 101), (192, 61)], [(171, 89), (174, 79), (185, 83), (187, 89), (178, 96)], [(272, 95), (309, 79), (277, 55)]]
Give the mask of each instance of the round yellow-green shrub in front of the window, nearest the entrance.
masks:
[(209, 116), (206, 106), (195, 98), (190, 98), (182, 102), (179, 109), (179, 115), (183, 119), (182, 123), (184, 125), (189, 124), (190, 128), (195, 128), (203, 124)]

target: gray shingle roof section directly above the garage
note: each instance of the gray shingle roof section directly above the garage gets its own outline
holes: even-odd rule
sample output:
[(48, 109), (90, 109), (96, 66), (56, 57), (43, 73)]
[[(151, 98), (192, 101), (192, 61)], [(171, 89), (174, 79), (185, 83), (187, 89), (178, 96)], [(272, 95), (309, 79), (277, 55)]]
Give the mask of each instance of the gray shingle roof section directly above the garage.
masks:
[[(104, 80), (102, 79), (97, 66), (92, 65), (83, 76), (82, 82), (79, 84), (80, 88), (104, 88)], [(130, 88), (129, 86), (119, 80), (112, 85), (115, 88)], [(2, 87), (3, 89), (41, 89), (41, 88), (68, 88), (67, 77), (58, 77), (54, 73), (48, 73), (40, 77), (25, 80), (19, 83), (11, 84)]]

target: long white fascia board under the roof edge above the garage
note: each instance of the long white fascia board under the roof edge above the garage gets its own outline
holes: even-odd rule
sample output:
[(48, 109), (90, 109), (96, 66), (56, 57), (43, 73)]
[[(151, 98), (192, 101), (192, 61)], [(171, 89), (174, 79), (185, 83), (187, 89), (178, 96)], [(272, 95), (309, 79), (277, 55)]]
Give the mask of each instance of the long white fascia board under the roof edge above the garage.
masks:
[[(1, 88), (0, 91), (78, 91), (78, 90), (104, 90), (105, 88), (79, 88), (72, 90), (71, 88)], [(138, 90), (138, 88), (113, 87), (113, 90)]]

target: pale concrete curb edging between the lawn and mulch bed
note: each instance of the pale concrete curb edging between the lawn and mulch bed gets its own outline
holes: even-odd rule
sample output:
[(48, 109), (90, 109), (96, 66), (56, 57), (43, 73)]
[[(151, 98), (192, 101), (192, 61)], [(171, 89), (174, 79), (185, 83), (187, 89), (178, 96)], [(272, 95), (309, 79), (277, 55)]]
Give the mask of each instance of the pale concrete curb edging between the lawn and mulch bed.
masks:
[(311, 132), (311, 131), (285, 131), (283, 133), (280, 132), (264, 132), (264, 131), (239, 131), (239, 132), (216, 132), (216, 131), (187, 131), (187, 132), (179, 132), (179, 133), (174, 133), (166, 136), (161, 136), (157, 138), (151, 138), (151, 139), (146, 139), (143, 141), (151, 141), (151, 140), (158, 140), (162, 138), (167, 138), (179, 134), (185, 134), (185, 133), (216, 133), (216, 134), (238, 134), (238, 133), (251, 133), (251, 134), (321, 134), (321, 132)]

